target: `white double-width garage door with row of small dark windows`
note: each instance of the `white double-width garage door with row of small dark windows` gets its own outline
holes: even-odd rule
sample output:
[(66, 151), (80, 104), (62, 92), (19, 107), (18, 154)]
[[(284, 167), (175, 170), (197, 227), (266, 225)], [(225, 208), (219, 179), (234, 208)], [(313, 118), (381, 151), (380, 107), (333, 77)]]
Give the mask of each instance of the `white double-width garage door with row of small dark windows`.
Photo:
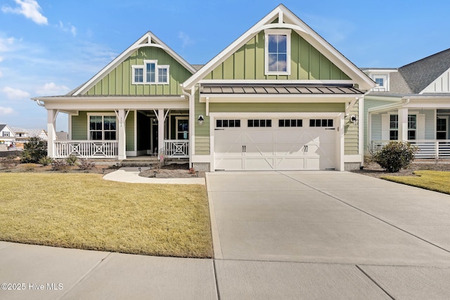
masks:
[(333, 119), (217, 119), (214, 169), (335, 169)]

